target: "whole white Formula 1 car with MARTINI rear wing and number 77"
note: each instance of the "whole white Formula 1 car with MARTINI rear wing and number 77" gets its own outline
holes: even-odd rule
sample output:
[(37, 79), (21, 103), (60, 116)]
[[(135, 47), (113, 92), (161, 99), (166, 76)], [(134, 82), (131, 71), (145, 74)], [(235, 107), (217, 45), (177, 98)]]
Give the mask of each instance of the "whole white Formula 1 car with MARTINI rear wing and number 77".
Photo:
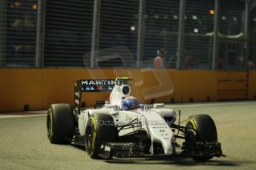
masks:
[[(217, 129), (209, 115), (192, 115), (186, 126), (174, 124), (177, 114), (163, 103), (147, 105), (132, 97), (129, 82), (78, 80), (75, 82), (74, 109), (69, 104), (52, 104), (47, 112), (50, 143), (85, 146), (91, 158), (184, 155), (194, 160), (223, 156)], [(80, 111), (82, 92), (111, 92), (109, 101), (96, 102), (94, 109)], [(179, 135), (180, 134), (180, 135)], [(177, 139), (183, 140), (179, 145)]]

